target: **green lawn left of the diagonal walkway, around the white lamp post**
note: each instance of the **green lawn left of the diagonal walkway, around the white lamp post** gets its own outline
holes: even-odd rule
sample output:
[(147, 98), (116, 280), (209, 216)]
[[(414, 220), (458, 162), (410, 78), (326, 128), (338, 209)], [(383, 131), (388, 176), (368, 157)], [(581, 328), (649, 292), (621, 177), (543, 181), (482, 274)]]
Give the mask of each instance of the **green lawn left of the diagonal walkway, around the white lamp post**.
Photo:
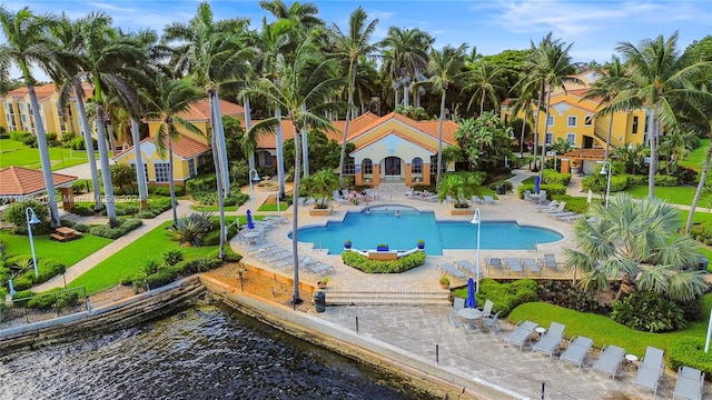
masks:
[[(96, 252), (102, 247), (109, 244), (112, 240), (83, 233), (81, 239), (68, 242), (58, 242), (50, 240), (49, 234), (34, 236), (34, 252), (37, 258), (50, 257), (71, 267), (89, 254)], [(27, 236), (17, 236), (8, 231), (0, 231), (0, 241), (4, 243), (4, 250), (8, 256), (11, 254), (31, 254), (30, 238)]]

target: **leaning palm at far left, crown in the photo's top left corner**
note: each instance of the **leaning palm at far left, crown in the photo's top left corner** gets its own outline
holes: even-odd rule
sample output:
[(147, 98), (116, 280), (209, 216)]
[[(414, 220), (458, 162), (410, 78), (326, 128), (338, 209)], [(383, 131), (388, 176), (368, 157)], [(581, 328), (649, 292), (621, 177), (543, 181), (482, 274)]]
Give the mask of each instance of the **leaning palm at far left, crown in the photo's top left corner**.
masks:
[(6, 43), (0, 46), (0, 80), (8, 81), (11, 62), (14, 62), (22, 72), (33, 110), (37, 143), (42, 164), (44, 188), (47, 189), (51, 226), (59, 227), (61, 222), (59, 221), (59, 209), (57, 208), (55, 196), (52, 164), (49, 159), (49, 147), (41, 118), (42, 113), (34, 92), (37, 81), (32, 74), (33, 66), (47, 71), (56, 62), (56, 52), (52, 51), (52, 43), (49, 39), (49, 29), (53, 23), (51, 16), (36, 16), (27, 7), (13, 13), (4, 6), (0, 6), (0, 26), (2, 26), (2, 33), (7, 40)]

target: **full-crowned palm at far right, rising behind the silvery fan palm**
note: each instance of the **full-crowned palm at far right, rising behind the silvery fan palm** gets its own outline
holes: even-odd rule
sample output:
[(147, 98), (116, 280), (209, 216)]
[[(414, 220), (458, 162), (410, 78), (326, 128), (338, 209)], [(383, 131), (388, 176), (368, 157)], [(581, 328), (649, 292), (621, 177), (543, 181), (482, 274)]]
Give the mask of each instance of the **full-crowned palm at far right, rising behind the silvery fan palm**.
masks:
[(645, 39), (640, 47), (620, 42), (615, 51), (625, 60), (627, 73), (622, 78), (623, 89), (611, 102), (611, 109), (633, 110), (645, 107), (651, 111), (647, 196), (652, 198), (655, 196), (660, 129), (679, 129), (673, 104), (680, 98), (700, 98), (700, 92), (686, 83), (690, 77), (706, 68), (706, 63), (698, 62), (683, 67), (678, 50), (678, 32), (668, 40), (663, 36)]

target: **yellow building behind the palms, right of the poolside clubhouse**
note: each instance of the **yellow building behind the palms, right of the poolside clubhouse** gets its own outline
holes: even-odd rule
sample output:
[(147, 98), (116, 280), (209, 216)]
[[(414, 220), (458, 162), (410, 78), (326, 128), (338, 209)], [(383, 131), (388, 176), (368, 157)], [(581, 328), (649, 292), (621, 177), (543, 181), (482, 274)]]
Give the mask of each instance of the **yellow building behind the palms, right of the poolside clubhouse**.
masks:
[[(540, 111), (537, 142), (540, 147), (544, 143), (553, 144), (563, 139), (577, 149), (605, 149), (609, 128), (612, 132), (611, 149), (647, 142), (647, 134), (651, 131), (647, 110), (639, 109), (615, 112), (612, 117), (594, 117), (595, 112), (600, 110), (601, 101), (584, 99), (584, 96), (587, 88), (596, 80), (596, 73), (586, 71), (577, 74), (576, 78), (583, 84), (567, 84), (566, 90), (560, 88), (552, 92), (547, 121), (544, 121), (546, 109)], [(512, 114), (512, 100), (514, 99), (506, 99), (501, 104), (501, 118), (505, 123), (512, 118), (523, 118), (523, 113)], [(533, 126), (533, 121), (531, 122)], [(568, 170), (570, 161), (570, 159), (562, 159), (562, 169)], [(583, 171), (590, 172), (599, 160), (586, 158), (578, 161), (583, 164)]]

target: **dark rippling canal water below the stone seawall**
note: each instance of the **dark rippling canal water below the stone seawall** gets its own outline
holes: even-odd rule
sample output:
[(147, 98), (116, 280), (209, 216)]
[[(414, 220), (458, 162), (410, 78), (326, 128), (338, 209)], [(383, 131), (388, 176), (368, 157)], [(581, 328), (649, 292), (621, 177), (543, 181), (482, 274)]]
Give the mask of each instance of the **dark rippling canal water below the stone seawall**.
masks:
[(226, 306), (12, 353), (0, 399), (433, 399)]

